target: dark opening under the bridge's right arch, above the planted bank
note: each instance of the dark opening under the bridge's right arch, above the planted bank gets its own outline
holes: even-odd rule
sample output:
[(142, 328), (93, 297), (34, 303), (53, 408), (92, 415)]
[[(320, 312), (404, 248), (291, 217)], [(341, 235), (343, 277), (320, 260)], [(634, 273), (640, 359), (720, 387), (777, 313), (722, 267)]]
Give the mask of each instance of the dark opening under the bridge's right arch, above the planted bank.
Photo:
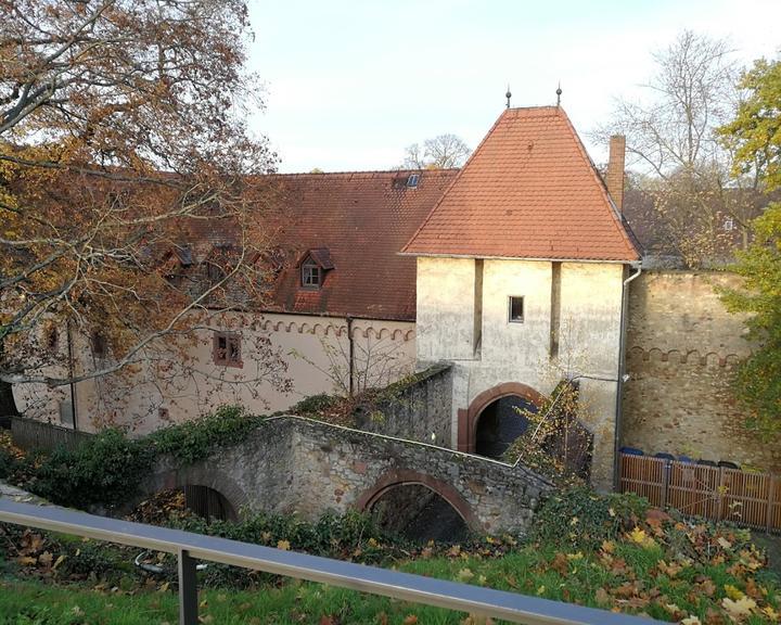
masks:
[(368, 510), (382, 530), (409, 540), (460, 543), (470, 534), (456, 508), (422, 484), (390, 486)]

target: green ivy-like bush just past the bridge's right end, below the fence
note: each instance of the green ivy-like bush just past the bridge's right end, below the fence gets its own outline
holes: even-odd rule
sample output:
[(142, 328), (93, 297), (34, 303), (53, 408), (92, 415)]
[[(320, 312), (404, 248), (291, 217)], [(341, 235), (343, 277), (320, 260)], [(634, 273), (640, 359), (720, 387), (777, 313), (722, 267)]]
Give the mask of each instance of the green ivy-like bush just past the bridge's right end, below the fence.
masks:
[(563, 490), (546, 500), (529, 537), (573, 549), (596, 549), (644, 519), (649, 502), (632, 494), (600, 495), (586, 486)]

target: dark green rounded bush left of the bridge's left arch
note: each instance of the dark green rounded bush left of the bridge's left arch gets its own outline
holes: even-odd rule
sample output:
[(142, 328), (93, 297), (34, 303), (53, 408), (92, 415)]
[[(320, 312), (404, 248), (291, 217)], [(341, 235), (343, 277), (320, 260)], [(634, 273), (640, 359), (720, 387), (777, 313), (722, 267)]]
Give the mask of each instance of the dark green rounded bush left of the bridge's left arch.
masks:
[(154, 460), (151, 446), (106, 429), (76, 449), (59, 447), (46, 458), (30, 485), (34, 493), (63, 506), (118, 506), (138, 492)]

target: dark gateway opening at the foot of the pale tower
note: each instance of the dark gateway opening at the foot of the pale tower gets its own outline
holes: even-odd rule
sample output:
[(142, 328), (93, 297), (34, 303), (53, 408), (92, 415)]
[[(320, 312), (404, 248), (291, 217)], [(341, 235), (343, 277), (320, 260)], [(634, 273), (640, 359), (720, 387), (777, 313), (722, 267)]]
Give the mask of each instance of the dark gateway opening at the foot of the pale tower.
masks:
[(536, 413), (536, 404), (518, 395), (507, 395), (481, 412), (475, 430), (475, 454), (500, 459), (513, 441), (528, 428), (525, 411)]

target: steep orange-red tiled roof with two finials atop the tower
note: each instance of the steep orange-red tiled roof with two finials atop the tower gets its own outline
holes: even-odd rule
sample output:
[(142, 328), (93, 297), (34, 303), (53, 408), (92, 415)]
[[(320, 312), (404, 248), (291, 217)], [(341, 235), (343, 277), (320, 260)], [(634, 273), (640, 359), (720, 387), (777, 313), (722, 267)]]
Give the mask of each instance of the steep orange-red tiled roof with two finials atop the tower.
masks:
[(640, 257), (558, 106), (504, 111), (401, 253), (618, 263)]

